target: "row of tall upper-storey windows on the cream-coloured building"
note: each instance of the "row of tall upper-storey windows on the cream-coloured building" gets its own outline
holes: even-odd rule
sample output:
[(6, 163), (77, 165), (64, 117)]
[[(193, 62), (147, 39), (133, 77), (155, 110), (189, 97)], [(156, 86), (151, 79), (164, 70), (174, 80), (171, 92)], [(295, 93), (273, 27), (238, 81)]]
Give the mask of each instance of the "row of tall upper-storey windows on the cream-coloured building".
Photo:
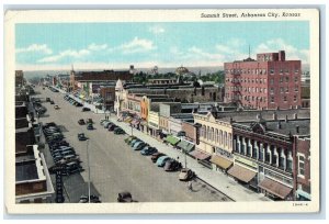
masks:
[(227, 133), (226, 131), (203, 125), (201, 127), (200, 136), (206, 141), (214, 142), (219, 145), (224, 145), (228, 148), (232, 147), (231, 133)]

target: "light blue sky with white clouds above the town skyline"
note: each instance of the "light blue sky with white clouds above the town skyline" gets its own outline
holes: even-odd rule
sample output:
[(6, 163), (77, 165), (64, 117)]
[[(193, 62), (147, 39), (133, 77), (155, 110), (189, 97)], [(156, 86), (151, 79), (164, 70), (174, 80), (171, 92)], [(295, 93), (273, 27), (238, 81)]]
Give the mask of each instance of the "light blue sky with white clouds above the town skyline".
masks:
[(16, 69), (122, 69), (223, 66), (284, 49), (309, 64), (309, 24), (291, 22), (22, 23)]

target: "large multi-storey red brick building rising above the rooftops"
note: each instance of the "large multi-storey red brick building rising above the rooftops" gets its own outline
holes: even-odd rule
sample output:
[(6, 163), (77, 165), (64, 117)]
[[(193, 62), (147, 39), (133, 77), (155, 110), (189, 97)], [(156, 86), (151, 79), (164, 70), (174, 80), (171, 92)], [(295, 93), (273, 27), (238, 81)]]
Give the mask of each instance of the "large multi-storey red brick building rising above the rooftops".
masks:
[(286, 60), (285, 52), (262, 53), (257, 60), (225, 63), (225, 102), (252, 109), (302, 105), (300, 60)]

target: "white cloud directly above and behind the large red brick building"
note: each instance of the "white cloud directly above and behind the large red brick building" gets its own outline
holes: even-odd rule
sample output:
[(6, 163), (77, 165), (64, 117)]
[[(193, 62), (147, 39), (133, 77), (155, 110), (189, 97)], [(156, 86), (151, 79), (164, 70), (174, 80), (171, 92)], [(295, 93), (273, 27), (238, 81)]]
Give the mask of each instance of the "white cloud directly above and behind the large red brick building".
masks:
[(282, 38), (269, 40), (264, 43), (261, 43), (254, 49), (256, 53), (276, 53), (279, 51), (285, 51), (285, 58), (287, 60), (298, 59), (305, 64), (309, 63), (309, 49), (298, 49)]

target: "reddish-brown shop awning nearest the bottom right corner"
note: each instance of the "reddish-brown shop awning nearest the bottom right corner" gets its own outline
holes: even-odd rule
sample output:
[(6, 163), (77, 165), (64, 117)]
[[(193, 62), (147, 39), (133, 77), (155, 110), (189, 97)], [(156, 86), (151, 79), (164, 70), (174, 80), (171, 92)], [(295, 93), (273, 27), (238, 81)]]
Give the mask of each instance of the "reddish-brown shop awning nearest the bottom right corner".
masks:
[(270, 193), (277, 195), (281, 199), (285, 199), (293, 189), (286, 187), (280, 182), (265, 178), (259, 183), (259, 187), (269, 191)]

